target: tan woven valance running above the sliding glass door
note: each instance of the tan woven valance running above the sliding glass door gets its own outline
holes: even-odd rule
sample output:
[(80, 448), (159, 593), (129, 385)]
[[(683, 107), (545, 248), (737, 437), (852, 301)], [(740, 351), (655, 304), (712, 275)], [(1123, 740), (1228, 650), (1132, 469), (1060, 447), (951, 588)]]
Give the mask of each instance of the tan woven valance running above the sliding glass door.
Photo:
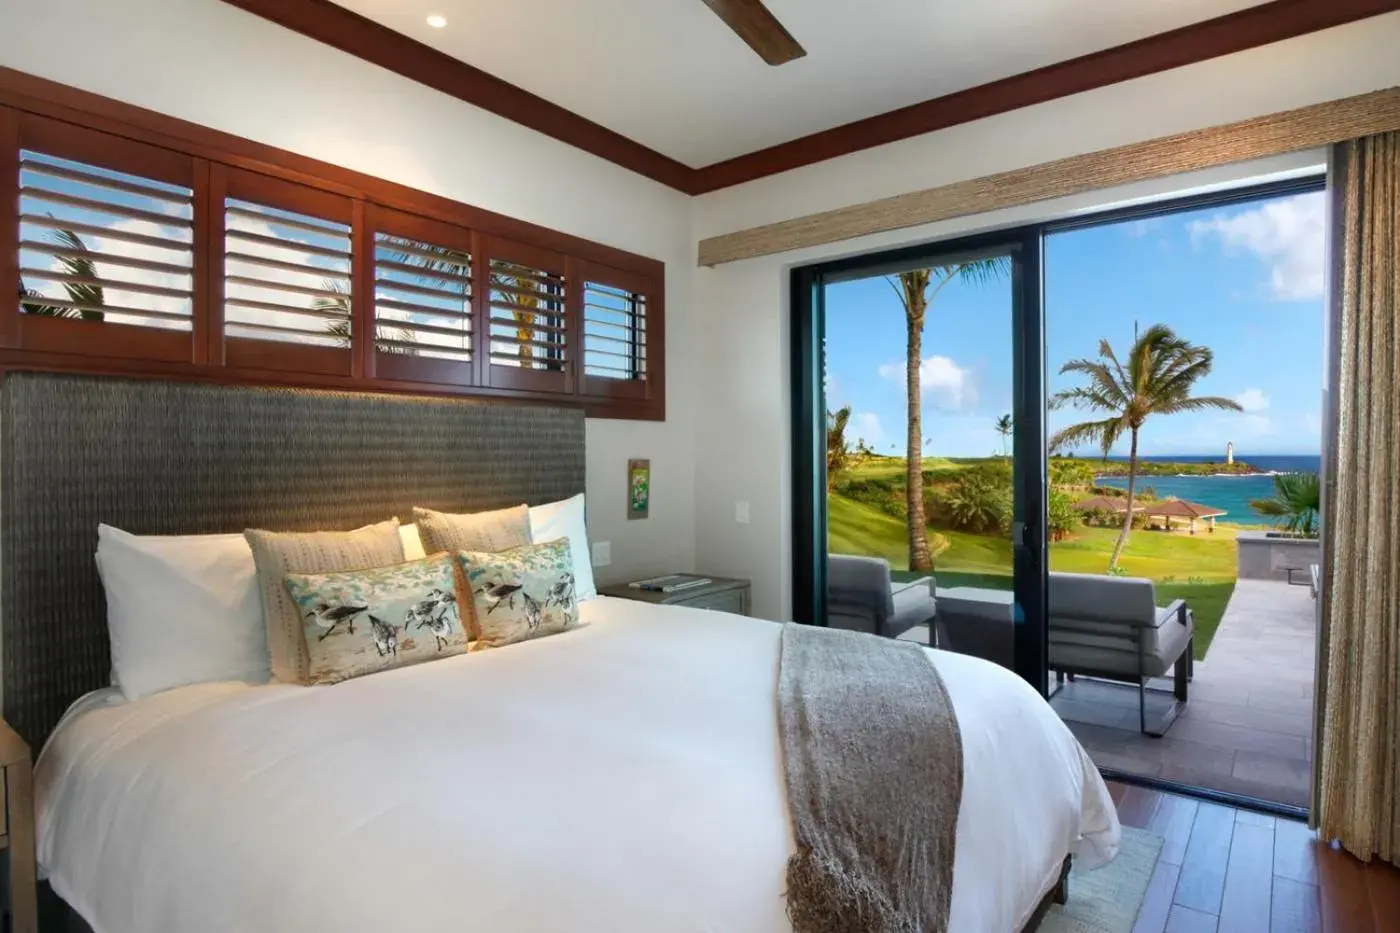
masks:
[(837, 207), (700, 241), (715, 266), (1400, 130), (1400, 87)]

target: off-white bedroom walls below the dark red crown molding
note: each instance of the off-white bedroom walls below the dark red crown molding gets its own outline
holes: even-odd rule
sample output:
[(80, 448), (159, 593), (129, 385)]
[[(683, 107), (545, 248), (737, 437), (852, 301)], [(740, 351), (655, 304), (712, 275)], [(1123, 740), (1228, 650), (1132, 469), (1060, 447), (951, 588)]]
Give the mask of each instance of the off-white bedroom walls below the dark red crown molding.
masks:
[[(697, 567), (790, 612), (787, 272), (1316, 157), (694, 270), (701, 237), (1400, 84), (1400, 13), (857, 153), (690, 200), (220, 0), (0, 0), (0, 64), (666, 262), (668, 420), (588, 423), (603, 580)], [(624, 465), (650, 457), (648, 521)], [(746, 525), (735, 502), (750, 503)]]

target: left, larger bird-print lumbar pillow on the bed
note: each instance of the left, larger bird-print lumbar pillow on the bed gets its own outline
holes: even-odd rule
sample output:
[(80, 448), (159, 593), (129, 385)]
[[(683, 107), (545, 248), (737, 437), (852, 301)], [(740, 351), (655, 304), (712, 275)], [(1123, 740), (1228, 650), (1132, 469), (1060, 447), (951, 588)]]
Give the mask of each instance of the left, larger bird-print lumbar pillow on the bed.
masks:
[(311, 660), (307, 684), (451, 657), (466, 650), (456, 572), (445, 553), (343, 573), (288, 573)]

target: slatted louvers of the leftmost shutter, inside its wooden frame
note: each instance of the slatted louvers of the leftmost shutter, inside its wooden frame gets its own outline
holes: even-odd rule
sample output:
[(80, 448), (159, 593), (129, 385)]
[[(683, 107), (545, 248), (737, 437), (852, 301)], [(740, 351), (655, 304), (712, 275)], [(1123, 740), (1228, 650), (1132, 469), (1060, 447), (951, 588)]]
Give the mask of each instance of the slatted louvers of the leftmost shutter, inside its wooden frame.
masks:
[(168, 331), (193, 322), (193, 191), (20, 153), (20, 312)]

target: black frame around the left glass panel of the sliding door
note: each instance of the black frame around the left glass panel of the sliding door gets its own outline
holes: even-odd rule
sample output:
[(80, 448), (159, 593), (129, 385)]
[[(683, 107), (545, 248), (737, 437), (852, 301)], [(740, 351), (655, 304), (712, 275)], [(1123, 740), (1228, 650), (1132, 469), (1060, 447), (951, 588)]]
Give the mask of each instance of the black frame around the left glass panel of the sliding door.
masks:
[[(1050, 653), (1046, 607), (1044, 310), (1039, 227), (960, 237), (792, 269), (792, 618), (826, 623), (826, 286), (960, 256), (1011, 258), (1012, 565), (1015, 670), (1042, 695)], [(815, 465), (815, 469), (813, 469)]]

